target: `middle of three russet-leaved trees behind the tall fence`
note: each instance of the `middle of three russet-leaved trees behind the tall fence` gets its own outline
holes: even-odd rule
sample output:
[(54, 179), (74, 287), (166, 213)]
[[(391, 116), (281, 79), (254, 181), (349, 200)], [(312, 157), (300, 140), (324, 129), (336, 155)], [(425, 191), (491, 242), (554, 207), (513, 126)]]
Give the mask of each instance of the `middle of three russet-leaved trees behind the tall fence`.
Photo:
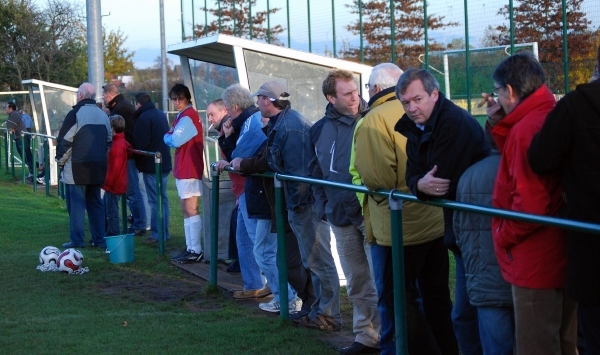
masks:
[[(421, 0), (394, 0), (394, 40), (396, 42), (396, 64), (401, 68), (419, 66), (419, 55), (425, 53), (425, 46), (421, 44), (425, 38), (423, 5)], [(353, 14), (359, 13), (358, 0), (346, 5)], [(365, 63), (375, 65), (391, 59), (391, 30), (390, 6), (387, 0), (371, 0), (362, 2), (363, 36), (366, 41), (364, 46)], [(442, 29), (456, 26), (455, 22), (444, 22), (444, 16), (427, 16), (429, 30)], [(354, 35), (360, 33), (360, 23), (351, 23), (347, 29)], [(429, 50), (443, 50), (444, 46), (429, 41)], [(358, 60), (360, 50), (350, 48), (340, 51), (346, 59)]]

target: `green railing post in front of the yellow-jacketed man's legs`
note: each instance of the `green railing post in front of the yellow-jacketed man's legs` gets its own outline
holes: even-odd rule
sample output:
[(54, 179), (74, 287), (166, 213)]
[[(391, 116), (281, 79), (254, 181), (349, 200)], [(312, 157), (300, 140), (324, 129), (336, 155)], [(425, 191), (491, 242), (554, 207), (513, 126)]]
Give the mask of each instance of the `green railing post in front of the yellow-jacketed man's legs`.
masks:
[(404, 281), (404, 234), (402, 232), (402, 200), (390, 191), (390, 219), (392, 224), (392, 270), (394, 277), (394, 322), (396, 353), (408, 354), (406, 329), (406, 286)]

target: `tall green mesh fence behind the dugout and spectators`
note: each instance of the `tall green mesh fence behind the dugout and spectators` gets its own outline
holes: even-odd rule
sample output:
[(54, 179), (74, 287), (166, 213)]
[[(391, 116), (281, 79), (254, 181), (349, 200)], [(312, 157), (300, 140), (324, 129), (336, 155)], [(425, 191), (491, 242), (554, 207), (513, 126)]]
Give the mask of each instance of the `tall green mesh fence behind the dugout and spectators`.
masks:
[[(392, 61), (402, 69), (429, 68), (443, 91), (475, 115), (480, 112), (472, 102), (492, 88), (495, 66), (510, 53), (534, 51), (548, 86), (560, 95), (589, 80), (600, 45), (597, 0), (180, 2), (182, 40), (203, 36), (207, 31), (196, 30), (211, 23), (228, 33), (235, 18), (239, 37), (370, 65)], [(261, 12), (268, 16), (257, 23)], [(280, 33), (275, 33), (277, 26)], [(260, 27), (273, 33), (261, 38)]]

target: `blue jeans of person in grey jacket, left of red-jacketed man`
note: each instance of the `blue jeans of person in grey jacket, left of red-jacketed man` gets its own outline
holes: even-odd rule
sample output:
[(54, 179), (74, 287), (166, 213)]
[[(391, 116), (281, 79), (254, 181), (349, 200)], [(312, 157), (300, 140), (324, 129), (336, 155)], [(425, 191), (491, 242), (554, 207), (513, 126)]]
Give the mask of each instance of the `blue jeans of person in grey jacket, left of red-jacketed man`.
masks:
[(477, 307), (479, 336), (485, 355), (512, 355), (515, 311), (512, 307)]

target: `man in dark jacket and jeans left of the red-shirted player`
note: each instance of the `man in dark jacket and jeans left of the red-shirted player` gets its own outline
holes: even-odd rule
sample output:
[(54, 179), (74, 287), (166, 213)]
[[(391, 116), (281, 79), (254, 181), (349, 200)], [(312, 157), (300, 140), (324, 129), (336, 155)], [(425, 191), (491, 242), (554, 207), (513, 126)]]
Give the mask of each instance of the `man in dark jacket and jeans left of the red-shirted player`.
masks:
[[(169, 131), (167, 116), (154, 107), (150, 96), (145, 92), (135, 95), (137, 110), (134, 116), (137, 119), (133, 133), (133, 148), (147, 152), (160, 152), (162, 157), (162, 207), (163, 207), (163, 238), (169, 239), (169, 198), (167, 197), (167, 181), (171, 172), (171, 151), (165, 144), (163, 137)], [(150, 238), (158, 240), (158, 205), (156, 191), (156, 170), (154, 157), (135, 155), (137, 169), (144, 177), (144, 185), (148, 195), (148, 204), (152, 211), (150, 220)]]

